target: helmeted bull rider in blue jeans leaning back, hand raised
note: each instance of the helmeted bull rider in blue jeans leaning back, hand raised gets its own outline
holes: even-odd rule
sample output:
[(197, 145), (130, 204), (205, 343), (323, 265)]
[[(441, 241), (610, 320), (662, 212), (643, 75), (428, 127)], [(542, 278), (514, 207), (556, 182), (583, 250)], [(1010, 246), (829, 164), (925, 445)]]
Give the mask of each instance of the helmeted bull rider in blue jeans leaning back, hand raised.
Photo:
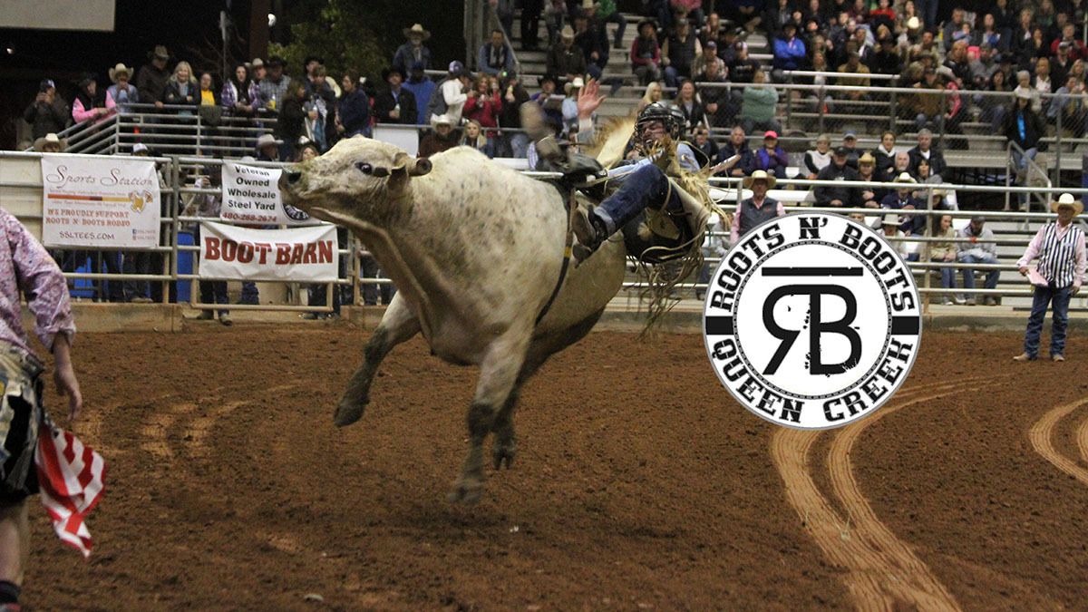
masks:
[[(604, 100), (598, 91), (599, 84), (590, 81), (579, 94), (580, 144), (593, 140), (592, 114)], [(529, 128), (535, 123), (535, 118), (523, 117), (522, 123), (531, 136), (536, 135)], [(689, 252), (689, 247), (695, 242), (694, 236), (701, 235), (701, 225), (705, 223), (712, 206), (707, 184), (701, 173), (706, 156), (681, 142), (685, 123), (678, 109), (660, 102), (647, 105), (639, 113), (633, 137), (636, 159), (617, 162), (607, 171), (606, 178), (603, 171), (598, 172), (598, 180), (604, 181), (606, 193), (611, 192), (610, 195), (593, 210), (579, 208), (579, 213), (573, 219), (573, 231), (578, 237), (578, 244), (573, 247), (577, 262), (585, 260), (605, 240), (620, 231), (623, 232), (629, 248), (634, 246), (632, 254), (652, 262), (672, 259)], [(580, 170), (578, 167), (581, 160), (569, 159), (565, 162), (558, 145), (551, 137), (533, 139), (536, 140), (536, 150), (542, 158), (568, 174)], [(710, 169), (709, 173), (728, 169), (737, 159), (739, 158), (722, 162)], [(678, 183), (670, 181), (670, 178)], [(682, 188), (676, 188), (678, 184)], [(640, 224), (629, 225), (644, 211), (645, 225), (653, 236), (640, 232)], [(693, 215), (696, 219), (690, 222), (688, 217)], [(651, 249), (655, 249), (653, 255), (648, 253)]]

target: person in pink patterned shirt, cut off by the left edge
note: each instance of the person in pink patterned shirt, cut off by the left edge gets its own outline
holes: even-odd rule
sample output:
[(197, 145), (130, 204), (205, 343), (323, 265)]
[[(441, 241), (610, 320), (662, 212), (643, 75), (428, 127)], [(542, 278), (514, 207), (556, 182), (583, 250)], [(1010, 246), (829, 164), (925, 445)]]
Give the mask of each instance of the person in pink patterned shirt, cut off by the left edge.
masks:
[(30, 352), (23, 329), (21, 291), (34, 313), (35, 333), (53, 354), (53, 380), (58, 392), (69, 397), (73, 421), (83, 397), (72, 369), (75, 322), (60, 268), (30, 232), (3, 209), (0, 234), (0, 610), (18, 610), (30, 552), (26, 498), (38, 492), (34, 451), (45, 420), (39, 380), (45, 366)]

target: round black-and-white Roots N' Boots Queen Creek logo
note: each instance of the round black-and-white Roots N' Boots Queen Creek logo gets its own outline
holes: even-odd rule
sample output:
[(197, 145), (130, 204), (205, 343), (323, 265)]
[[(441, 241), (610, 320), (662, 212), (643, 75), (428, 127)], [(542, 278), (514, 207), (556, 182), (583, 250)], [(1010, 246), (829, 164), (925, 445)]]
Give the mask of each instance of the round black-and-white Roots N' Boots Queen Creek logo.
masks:
[(808, 212), (746, 233), (707, 287), (703, 335), (718, 379), (787, 427), (840, 427), (906, 379), (922, 314), (911, 269), (868, 227)]

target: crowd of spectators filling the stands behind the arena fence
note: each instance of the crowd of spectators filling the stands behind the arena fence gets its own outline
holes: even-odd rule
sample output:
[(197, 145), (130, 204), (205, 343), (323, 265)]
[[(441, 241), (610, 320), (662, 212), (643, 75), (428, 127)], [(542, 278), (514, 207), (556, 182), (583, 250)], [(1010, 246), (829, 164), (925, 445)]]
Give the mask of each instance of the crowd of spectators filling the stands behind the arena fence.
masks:
[[(422, 157), (465, 145), (489, 157), (532, 159), (519, 107), (541, 105), (556, 134), (572, 140), (578, 91), (585, 79), (596, 78), (614, 94), (628, 84), (644, 87), (632, 111), (654, 102), (675, 106), (687, 121), (684, 137), (710, 163), (739, 156), (725, 171), (730, 176), (764, 172), (834, 181), (814, 188), (812, 199), (903, 210), (926, 204), (918, 184), (947, 178), (936, 145), (963, 143), (940, 136), (963, 134), (967, 121), (988, 123), (991, 133), (1017, 145), (1021, 182), (1043, 138), (1059, 125), (1085, 135), (1084, 3), (997, 0), (956, 7), (938, 22), (934, 0), (645, 0), (644, 17), (634, 24), (638, 34), (627, 46), (628, 23), (611, 0), (523, 0), (518, 2), (521, 49), (543, 51), (545, 62), (544, 74), (527, 84), (507, 36), (515, 3), (496, 0), (491, 4), (503, 27), (466, 59), (474, 61), (474, 73), (458, 60), (434, 65), (426, 45), (431, 33), (418, 23), (404, 28), (405, 42), (380, 81), (351, 70), (330, 75), (322, 59), (311, 57), (299, 66), (281, 58), (254, 59), (234, 66), (220, 84), (212, 72), (175, 62), (157, 46), (138, 71), (123, 63), (109, 70), (108, 88), (100, 88), (95, 75), (81, 78), (70, 102), (57, 95), (53, 82), (42, 81), (24, 118), (36, 145), (73, 122), (100, 122), (132, 112), (133, 105), (153, 105), (165, 114), (252, 118), (258, 125), (274, 117), (272, 136), (257, 147), (257, 157), (265, 160), (298, 159), (305, 148), (320, 155), (339, 138), (369, 136), (382, 124), (422, 127)], [(704, 11), (704, 4), (718, 10)], [(536, 32), (541, 20), (546, 37)], [(769, 61), (750, 53), (755, 33), (766, 36)], [(783, 93), (779, 86), (787, 82), (848, 88)], [(527, 85), (539, 91), (530, 94)], [(906, 126), (883, 132), (873, 148), (860, 147), (849, 131), (841, 138), (820, 134), (811, 149), (799, 145), (795, 134), (780, 138), (783, 96), (793, 96), (802, 110), (849, 118), (887, 100), (881, 90), (887, 86), (917, 91), (899, 98), (899, 119)], [(716, 143), (715, 132), (728, 133), (728, 139)], [(901, 144), (903, 133), (910, 142)], [(877, 134), (864, 136), (876, 140)], [(865, 181), (903, 187), (852, 185)], [(934, 195), (936, 208), (956, 207), (954, 194)], [(922, 217), (903, 215), (894, 231), (917, 234), (924, 227)]]

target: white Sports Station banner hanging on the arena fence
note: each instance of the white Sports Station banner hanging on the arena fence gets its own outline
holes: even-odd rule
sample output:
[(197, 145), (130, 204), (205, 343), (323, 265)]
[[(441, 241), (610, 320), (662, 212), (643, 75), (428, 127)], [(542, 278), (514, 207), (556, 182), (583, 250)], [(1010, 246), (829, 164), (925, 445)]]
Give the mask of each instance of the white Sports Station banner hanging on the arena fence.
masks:
[(154, 161), (41, 157), (41, 242), (46, 246), (159, 246)]

